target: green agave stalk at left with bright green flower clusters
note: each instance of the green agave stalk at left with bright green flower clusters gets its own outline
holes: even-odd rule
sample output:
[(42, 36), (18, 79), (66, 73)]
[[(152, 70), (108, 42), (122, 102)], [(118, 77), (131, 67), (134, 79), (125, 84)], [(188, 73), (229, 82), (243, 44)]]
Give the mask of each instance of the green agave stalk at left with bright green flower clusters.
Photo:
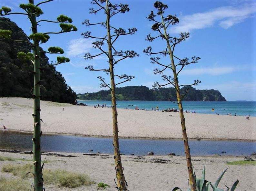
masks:
[[(46, 43), (50, 36), (48, 34), (59, 34), (59, 33), (67, 33), (71, 31), (77, 31), (77, 28), (72, 24), (72, 19), (65, 16), (60, 15), (57, 17), (56, 21), (49, 21), (49, 20), (39, 20), (37, 21), (37, 17), (43, 14), (43, 11), (39, 7), (39, 5), (48, 3), (54, 0), (46, 0), (43, 2), (40, 2), (38, 4), (34, 4), (34, 0), (29, 0), (28, 4), (20, 4), (20, 8), (23, 9), (25, 12), (23, 13), (12, 13), (11, 9), (9, 7), (3, 6), (0, 9), (0, 16), (6, 16), (11, 14), (20, 14), (20, 15), (26, 15), (28, 19), (31, 22), (31, 29), (32, 34), (29, 35), (29, 40), (17, 40), (17, 39), (11, 39), (11, 31), (8, 30), (0, 30), (0, 37), (8, 38), (16, 42), (24, 42), (28, 43), (33, 47), (33, 53), (24, 53), (19, 52), (17, 53), (18, 58), (21, 60), (30, 60), (34, 65), (34, 88), (31, 90), (33, 91), (33, 99), (34, 99), (34, 111), (33, 111), (33, 118), (34, 118), (34, 134), (32, 138), (33, 142), (33, 174), (34, 174), (34, 190), (35, 191), (42, 191), (43, 190), (43, 177), (42, 177), (42, 170), (44, 167), (41, 164), (41, 121), (43, 120), (40, 118), (40, 71), (44, 69), (44, 67), (47, 66), (56, 66), (64, 62), (69, 62), (70, 60), (66, 57), (57, 57), (57, 61), (53, 62), (51, 65), (40, 65), (40, 53), (50, 53), (50, 54), (63, 54), (64, 51), (60, 47), (49, 47), (48, 51), (40, 50), (39, 45), (42, 43)], [(46, 33), (38, 33), (37, 26), (41, 22), (50, 22), (50, 23), (60, 23), (61, 30), (59, 32), (46, 32)], [(32, 42), (31, 42), (32, 41)]]

